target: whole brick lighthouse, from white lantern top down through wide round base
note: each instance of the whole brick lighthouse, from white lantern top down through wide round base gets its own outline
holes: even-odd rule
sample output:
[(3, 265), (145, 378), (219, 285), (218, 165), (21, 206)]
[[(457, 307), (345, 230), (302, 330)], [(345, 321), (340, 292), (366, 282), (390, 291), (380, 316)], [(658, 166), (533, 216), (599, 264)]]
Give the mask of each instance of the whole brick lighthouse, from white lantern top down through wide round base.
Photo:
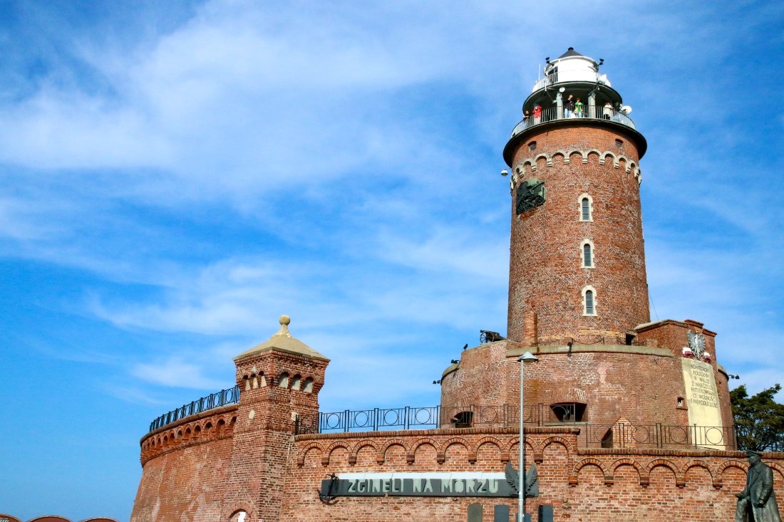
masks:
[(619, 443), (612, 426), (731, 426), (716, 334), (697, 321), (651, 322), (639, 168), (647, 143), (602, 62), (572, 48), (548, 59), (504, 147), (507, 333), (463, 351), (442, 375), (442, 407), (460, 425), (489, 422), (478, 415), (499, 410), (484, 405), (519, 404), (517, 359), (530, 351), (527, 422), (582, 423), (607, 447)]

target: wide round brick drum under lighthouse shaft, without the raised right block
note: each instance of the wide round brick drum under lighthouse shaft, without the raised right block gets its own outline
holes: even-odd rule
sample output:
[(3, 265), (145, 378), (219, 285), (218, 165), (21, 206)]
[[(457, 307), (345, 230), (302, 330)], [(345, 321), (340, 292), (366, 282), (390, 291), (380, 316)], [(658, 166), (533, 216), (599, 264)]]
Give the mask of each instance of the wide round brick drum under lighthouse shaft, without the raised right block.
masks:
[[(677, 407), (677, 397), (685, 393), (680, 357), (647, 346), (575, 345), (571, 354), (566, 346), (555, 350), (543, 348), (539, 362), (525, 365), (526, 415), (533, 423), (555, 422), (550, 405), (575, 402), (586, 404), (583, 422), (608, 429), (619, 421), (688, 425), (688, 411)], [(516, 407), (520, 351), (508, 341), (463, 351), (459, 368), (442, 379), (441, 404)]]

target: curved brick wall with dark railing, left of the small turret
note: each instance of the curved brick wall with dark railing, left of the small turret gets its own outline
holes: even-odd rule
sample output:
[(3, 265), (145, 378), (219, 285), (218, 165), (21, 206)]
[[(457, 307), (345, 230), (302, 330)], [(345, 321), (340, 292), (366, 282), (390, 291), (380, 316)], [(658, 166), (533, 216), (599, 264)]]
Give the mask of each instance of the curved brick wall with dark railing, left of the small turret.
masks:
[(131, 522), (223, 520), (237, 409), (192, 415), (142, 439)]

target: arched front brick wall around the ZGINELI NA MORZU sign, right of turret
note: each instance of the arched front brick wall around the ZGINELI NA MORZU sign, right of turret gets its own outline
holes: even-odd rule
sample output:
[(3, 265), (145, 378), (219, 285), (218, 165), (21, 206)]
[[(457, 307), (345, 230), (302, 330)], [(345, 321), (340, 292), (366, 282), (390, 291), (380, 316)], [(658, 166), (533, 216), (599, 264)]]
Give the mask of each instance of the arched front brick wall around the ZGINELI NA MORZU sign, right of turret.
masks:
[[(527, 458), (539, 469), (541, 495), (528, 499), (530, 512), (550, 504), (557, 522), (725, 522), (735, 513), (733, 494), (746, 483), (742, 452), (585, 450), (578, 437), (564, 428), (527, 430)], [(339, 497), (328, 505), (316, 491), (328, 473), (503, 472), (507, 461), (517, 462), (517, 442), (514, 429), (299, 436), (281, 520), (466, 520), (474, 502), (483, 505), (485, 520), (499, 503), (514, 513), (516, 498)], [(767, 454), (764, 461), (775, 470), (776, 490), (784, 491), (784, 455)]]

